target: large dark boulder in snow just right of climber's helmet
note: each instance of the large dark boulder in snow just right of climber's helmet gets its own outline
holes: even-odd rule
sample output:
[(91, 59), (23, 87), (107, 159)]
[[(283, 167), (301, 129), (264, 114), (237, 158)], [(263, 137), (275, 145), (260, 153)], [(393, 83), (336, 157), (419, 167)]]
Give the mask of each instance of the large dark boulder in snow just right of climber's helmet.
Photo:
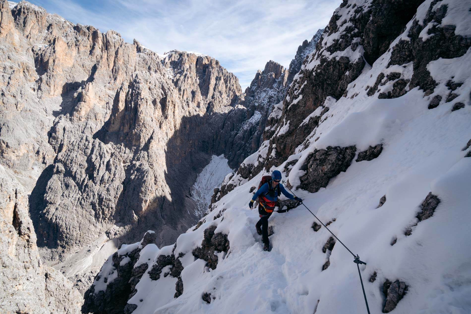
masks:
[(341, 171), (346, 171), (355, 157), (355, 146), (332, 147), (317, 149), (306, 158), (301, 170), (307, 171), (300, 177), (299, 187), (311, 193), (326, 187), (329, 180)]

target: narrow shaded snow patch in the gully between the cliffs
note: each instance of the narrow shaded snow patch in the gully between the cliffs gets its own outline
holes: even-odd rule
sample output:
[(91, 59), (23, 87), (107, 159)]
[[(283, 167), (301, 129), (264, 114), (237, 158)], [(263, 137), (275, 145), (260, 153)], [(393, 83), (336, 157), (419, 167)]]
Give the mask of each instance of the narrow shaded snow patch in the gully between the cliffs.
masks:
[(224, 155), (213, 155), (210, 163), (198, 175), (191, 187), (191, 195), (198, 205), (195, 209), (197, 217), (202, 217), (206, 213), (214, 188), (221, 184), (229, 172), (232, 172), (232, 169), (227, 165)]

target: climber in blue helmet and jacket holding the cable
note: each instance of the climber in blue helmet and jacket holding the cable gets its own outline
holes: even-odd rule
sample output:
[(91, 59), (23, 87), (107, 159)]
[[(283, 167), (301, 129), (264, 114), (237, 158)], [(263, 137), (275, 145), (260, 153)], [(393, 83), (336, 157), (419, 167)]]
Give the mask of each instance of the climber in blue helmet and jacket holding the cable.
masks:
[(287, 198), (302, 203), (302, 200), (299, 197), (288, 193), (285, 190), (284, 186), (280, 183), (280, 181), (281, 172), (278, 170), (273, 171), (271, 177), (262, 177), (257, 193), (253, 195), (252, 200), (250, 200), (249, 202), (249, 207), (252, 208), (253, 202), (257, 199), (257, 197), (260, 197), (260, 220), (255, 225), (255, 228), (257, 229), (257, 233), (262, 235), (262, 242), (264, 244), (263, 250), (265, 251), (270, 250), (270, 240), (268, 240), (268, 218), (271, 216), (271, 214), (273, 213), (273, 209), (275, 209), (276, 207), (278, 196), (283, 193), (284, 196), (286, 196)]

